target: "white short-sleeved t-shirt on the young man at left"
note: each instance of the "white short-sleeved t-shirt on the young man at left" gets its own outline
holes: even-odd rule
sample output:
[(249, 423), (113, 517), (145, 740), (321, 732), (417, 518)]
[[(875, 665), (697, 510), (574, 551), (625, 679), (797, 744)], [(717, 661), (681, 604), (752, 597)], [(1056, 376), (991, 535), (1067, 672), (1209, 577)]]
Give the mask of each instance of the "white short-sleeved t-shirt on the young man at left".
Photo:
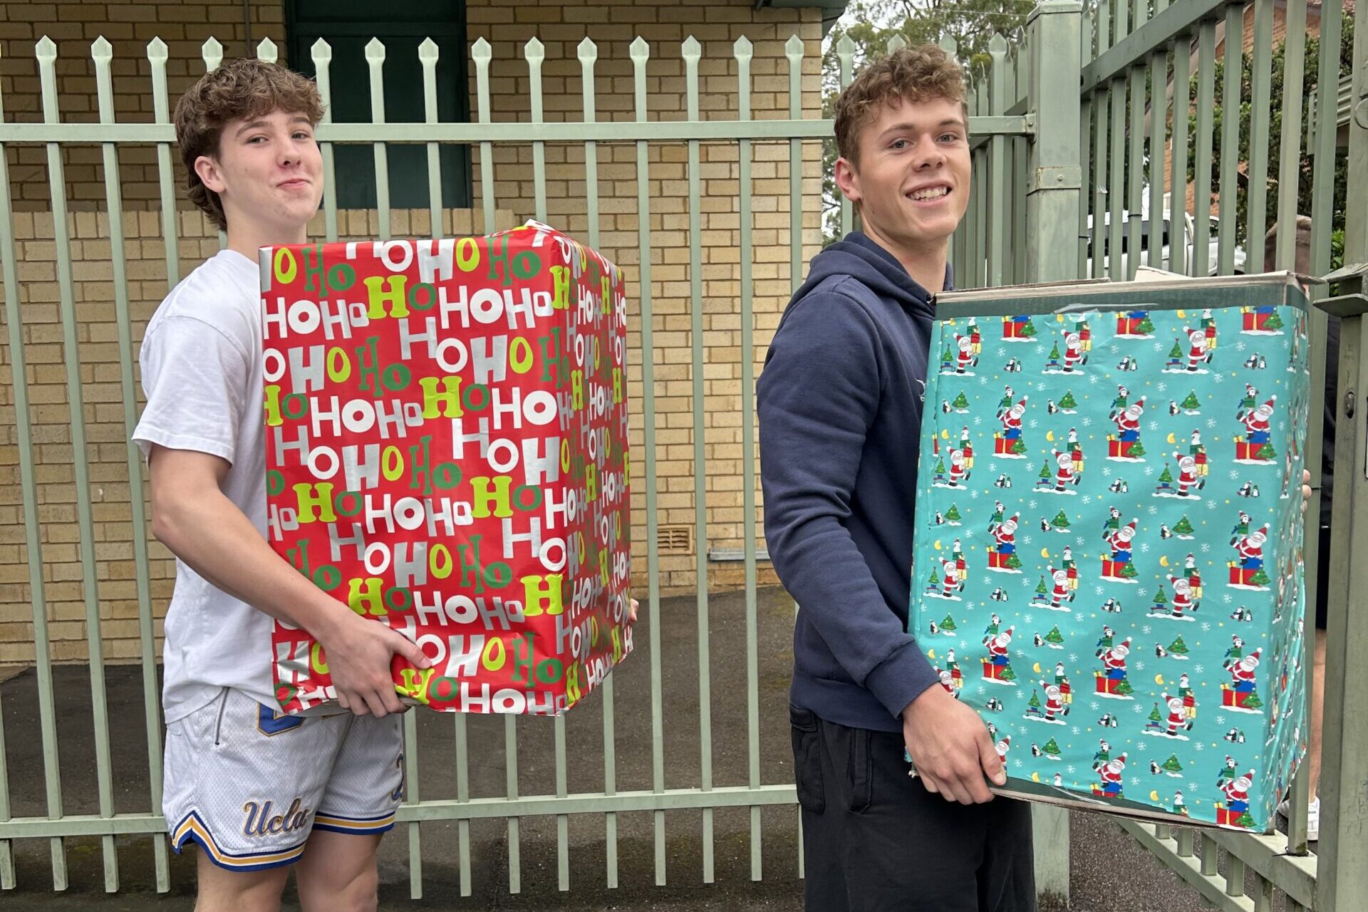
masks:
[[(171, 290), (148, 324), (138, 360), (148, 405), (133, 440), (233, 464), (223, 494), (265, 537), (265, 420), (257, 264), (220, 250)], [(224, 686), (275, 706), (271, 618), (176, 561), (166, 619), (166, 721)]]

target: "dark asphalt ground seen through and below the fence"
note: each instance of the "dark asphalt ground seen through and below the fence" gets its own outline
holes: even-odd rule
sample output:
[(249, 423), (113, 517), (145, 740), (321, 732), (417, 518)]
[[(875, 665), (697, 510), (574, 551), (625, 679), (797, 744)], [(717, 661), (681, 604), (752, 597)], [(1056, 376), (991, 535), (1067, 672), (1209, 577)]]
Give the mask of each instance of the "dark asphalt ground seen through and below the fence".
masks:
[[(761, 782), (792, 782), (787, 695), (792, 666), (793, 603), (780, 589), (763, 589), (757, 610), (757, 695)], [(620, 790), (653, 785), (653, 725), (650, 639), (651, 617), (635, 636), (636, 652), (614, 673), (616, 773)], [(707, 599), (702, 626), (709, 637), (709, 684), (713, 732), (713, 783), (746, 785), (747, 641), (741, 593)], [(662, 726), (661, 756), (666, 788), (700, 782), (699, 738), (699, 606), (695, 596), (663, 599), (659, 611)], [(97, 814), (97, 762), (89, 670), (53, 669), (60, 783), (66, 814)], [(112, 793), (115, 812), (146, 812), (146, 734), (138, 667), (107, 671), (111, 719)], [(45, 815), (42, 744), (38, 725), (37, 677), (29, 669), (0, 684), (5, 770), (11, 815)], [(570, 793), (603, 788), (603, 700), (591, 695), (566, 719), (566, 788)], [(419, 712), (417, 786), (421, 799), (456, 797), (456, 740), (451, 718)], [(553, 723), (517, 721), (520, 794), (554, 794)], [(505, 792), (503, 721), (468, 716), (472, 797), (502, 797)], [(412, 775), (412, 774), (410, 774)], [(410, 786), (412, 788), (412, 786)], [(618, 885), (606, 886), (606, 842), (602, 814), (568, 819), (570, 890), (558, 889), (557, 820), (520, 822), (521, 890), (509, 894), (509, 833), (502, 819), (471, 823), (471, 896), (461, 896), (458, 829), (454, 822), (419, 827), (423, 897), (410, 898), (406, 824), (387, 835), (380, 849), (382, 909), (517, 909), (599, 912), (657, 909), (661, 912), (799, 912), (798, 812), (795, 807), (761, 811), (762, 879), (751, 881), (751, 830), (746, 808), (714, 812), (714, 882), (703, 882), (702, 811), (665, 814), (666, 883), (655, 885), (655, 827), (651, 812), (617, 815)], [(194, 859), (171, 856), (171, 891), (157, 894), (152, 840), (119, 837), (120, 891), (104, 893), (98, 838), (66, 840), (68, 889), (52, 891), (51, 856), (45, 840), (12, 842), (18, 886), (0, 894), (0, 908), (64, 912), (74, 909), (193, 909)], [(1192, 889), (1145, 853), (1108, 818), (1073, 815), (1070, 831), (1071, 908), (1082, 912), (1197, 912)], [(297, 909), (287, 897), (286, 909)]]

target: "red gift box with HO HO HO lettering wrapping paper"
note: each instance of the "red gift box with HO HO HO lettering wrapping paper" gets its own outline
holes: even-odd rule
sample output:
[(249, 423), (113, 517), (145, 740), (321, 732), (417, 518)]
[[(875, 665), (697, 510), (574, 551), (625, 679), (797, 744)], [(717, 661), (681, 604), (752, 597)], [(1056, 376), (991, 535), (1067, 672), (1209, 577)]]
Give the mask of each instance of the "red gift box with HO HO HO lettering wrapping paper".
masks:
[[(536, 223), (260, 258), (272, 547), (434, 660), (406, 701), (568, 710), (632, 648), (621, 271)], [(272, 640), (283, 710), (335, 699)]]

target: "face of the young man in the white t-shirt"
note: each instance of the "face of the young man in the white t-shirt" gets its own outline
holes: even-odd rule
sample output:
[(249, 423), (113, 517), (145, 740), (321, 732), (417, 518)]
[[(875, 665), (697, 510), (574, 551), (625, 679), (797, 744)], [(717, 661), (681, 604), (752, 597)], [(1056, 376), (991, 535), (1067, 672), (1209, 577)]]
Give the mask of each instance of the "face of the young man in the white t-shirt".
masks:
[(230, 120), (218, 155), (200, 156), (194, 168), (219, 194), (228, 230), (260, 243), (304, 241), (323, 198), (323, 156), (302, 113)]

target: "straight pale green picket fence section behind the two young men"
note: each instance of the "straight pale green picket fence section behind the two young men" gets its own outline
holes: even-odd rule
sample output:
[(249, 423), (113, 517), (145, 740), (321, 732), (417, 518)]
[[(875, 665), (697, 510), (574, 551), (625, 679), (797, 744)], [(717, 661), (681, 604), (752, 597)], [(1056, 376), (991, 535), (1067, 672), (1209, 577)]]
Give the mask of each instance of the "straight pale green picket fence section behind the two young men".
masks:
[[(657, 451), (655, 451), (655, 360), (651, 353), (655, 345), (651, 336), (651, 260), (653, 237), (650, 212), (653, 198), (650, 196), (648, 180), (648, 150), (653, 142), (684, 142), (688, 153), (688, 261), (689, 261), (689, 313), (692, 328), (692, 398), (698, 406), (694, 409), (692, 436), (694, 436), (694, 484), (696, 492), (703, 492), (706, 485), (706, 453), (705, 453), (705, 407), (703, 403), (703, 299), (702, 299), (702, 204), (700, 204), (700, 148), (706, 142), (736, 144), (739, 149), (739, 209), (740, 209), (740, 287), (741, 287), (741, 383), (743, 388), (754, 388), (754, 338), (752, 338), (752, 213), (751, 213), (751, 164), (752, 146), (758, 142), (787, 142), (789, 145), (789, 174), (791, 174), (791, 267), (793, 287), (802, 279), (803, 249), (802, 228), (804, 208), (808, 201), (803, 198), (800, 178), (803, 164), (803, 142), (819, 139), (830, 135), (832, 124), (828, 120), (803, 119), (802, 97), (802, 63), (803, 42), (793, 36), (785, 45), (788, 60), (788, 113), (789, 118), (780, 120), (751, 119), (751, 75), (750, 64), (752, 59), (752, 45), (747, 38), (740, 38), (735, 44), (736, 66), (736, 97), (739, 103), (739, 116), (726, 120), (703, 120), (699, 118), (699, 60), (702, 46), (694, 38), (688, 38), (679, 48), (685, 68), (687, 83), (687, 119), (677, 122), (650, 120), (647, 118), (647, 64), (651, 57), (651, 48), (646, 41), (637, 38), (631, 45), (631, 59), (633, 67), (633, 97), (635, 119), (628, 122), (598, 122), (595, 119), (595, 79), (594, 67), (598, 57), (595, 44), (586, 40), (579, 45), (579, 60), (583, 68), (583, 120), (566, 123), (543, 122), (542, 98), (542, 64), (544, 52), (542, 44), (532, 38), (523, 48), (523, 57), (531, 85), (531, 119), (521, 123), (495, 123), (491, 118), (490, 104), (490, 63), (491, 48), (484, 40), (479, 40), (471, 49), (475, 63), (477, 88), (477, 119), (475, 123), (439, 123), (436, 119), (435, 98), (435, 66), (438, 59), (436, 45), (424, 42), (419, 49), (419, 57), (424, 74), (424, 101), (427, 122), (421, 124), (386, 123), (383, 108), (383, 79), (384, 79), (384, 46), (380, 41), (367, 45), (365, 59), (369, 67), (372, 122), (368, 124), (341, 124), (332, 123), (327, 118), (317, 130), (321, 144), (326, 180), (331, 186), (334, 182), (334, 148), (339, 142), (369, 144), (375, 155), (375, 174), (378, 187), (378, 215), (379, 237), (389, 238), (391, 232), (391, 206), (389, 200), (389, 165), (386, 159), (386, 145), (391, 142), (424, 144), (427, 149), (428, 187), (431, 224), (440, 226), (440, 144), (477, 145), (480, 161), (492, 163), (492, 149), (495, 144), (531, 145), (534, 161), (534, 215), (538, 219), (547, 217), (547, 182), (546, 182), (546, 146), (547, 144), (581, 144), (584, 149), (584, 193), (588, 205), (588, 243), (599, 246), (599, 212), (598, 212), (598, 148), (603, 144), (633, 144), (636, 149), (636, 168), (642, 179), (637, 180), (637, 239), (640, 253), (640, 345), (646, 357), (642, 357), (642, 402), (637, 420), (642, 423), (644, 438), (644, 470), (642, 484), (644, 485), (644, 515), (646, 515), (646, 548), (647, 548), (647, 592), (643, 598), (643, 611), (654, 619), (659, 608), (659, 576), (657, 552)], [(257, 48), (257, 55), (263, 59), (275, 59), (276, 49), (267, 40)], [(123, 257), (124, 228), (122, 223), (123, 193), (119, 183), (118, 155), (120, 149), (135, 145), (150, 145), (157, 152), (157, 165), (160, 174), (160, 215), (164, 232), (166, 276), (167, 287), (174, 286), (179, 279), (178, 269), (178, 238), (176, 238), (176, 201), (172, 189), (171, 144), (175, 139), (170, 126), (170, 107), (167, 96), (166, 64), (167, 48), (160, 40), (148, 45), (148, 62), (152, 71), (152, 94), (155, 100), (153, 123), (118, 123), (114, 118), (112, 88), (111, 88), (111, 45), (103, 38), (90, 48), (94, 63), (96, 79), (100, 98), (100, 123), (63, 123), (57, 107), (56, 57), (57, 51), (52, 41), (44, 38), (37, 45), (37, 62), (42, 86), (42, 123), (0, 123), (0, 258), (5, 264), (4, 293), (5, 319), (8, 325), (8, 354), (14, 376), (14, 405), (16, 420), (16, 444), (19, 453), (19, 474), (23, 500), (25, 543), (27, 547), (29, 584), (33, 602), (33, 625), (36, 647), (36, 670), (38, 680), (40, 726), (38, 732), (19, 732), (23, 738), (41, 738), (45, 764), (47, 785), (47, 815), (15, 818), (10, 812), (10, 792), (4, 767), (3, 730), (0, 730), (0, 886), (15, 887), (15, 866), (12, 855), (12, 840), (48, 840), (52, 857), (52, 886), (63, 890), (67, 887), (67, 866), (64, 837), (97, 835), (101, 838), (104, 861), (104, 885), (109, 891), (119, 889), (119, 867), (115, 852), (115, 837), (129, 834), (148, 834), (155, 846), (156, 885), (159, 890), (170, 887), (170, 860), (167, 855), (164, 833), (166, 824), (159, 812), (161, 804), (161, 726), (159, 718), (159, 690), (156, 678), (156, 652), (153, 637), (153, 610), (149, 587), (148, 561), (148, 529), (146, 514), (140, 496), (133, 500), (133, 533), (137, 567), (138, 618), (141, 632), (141, 666), (144, 681), (144, 714), (148, 727), (148, 775), (149, 794), (145, 809), (141, 812), (119, 814), (114, 809), (114, 760), (109, 755), (109, 718), (105, 704), (104, 660), (101, 656), (101, 615), (96, 587), (94, 544), (96, 536), (92, 522), (92, 499), (89, 462), (86, 458), (88, 442), (85, 438), (85, 410), (82, 403), (81, 381), (81, 349), (77, 338), (75, 294), (73, 283), (73, 258), (70, 252), (70, 232), (67, 222), (66, 180), (63, 175), (63, 152), (71, 146), (97, 144), (103, 149), (104, 175), (107, 187), (107, 211), (109, 217), (108, 238), (112, 250), (114, 290), (116, 304), (116, 321), (119, 328), (119, 364), (122, 368), (124, 431), (131, 433), (137, 418), (137, 388), (134, 386), (134, 342), (133, 324), (129, 314), (127, 275)], [(204, 66), (213, 68), (223, 57), (222, 46), (218, 41), (208, 41), (204, 45)], [(319, 41), (312, 48), (312, 57), (317, 71), (317, 83), (324, 103), (328, 100), (330, 79), (328, 64), (331, 49), (327, 42)], [(848, 78), (847, 72), (847, 78)], [(416, 88), (415, 88), (416, 89)], [(981, 135), (1014, 135), (1027, 130), (1027, 120), (1022, 116), (1007, 118), (977, 118), (973, 123), (975, 133)], [(10, 168), (4, 156), (4, 146), (12, 144), (41, 144), (47, 149), (48, 182), (51, 189), (51, 211), (53, 215), (56, 272), (60, 286), (60, 316), (63, 354), (67, 366), (67, 401), (71, 414), (71, 442), (73, 468), (77, 489), (77, 524), (79, 528), (79, 554), (83, 566), (83, 596), (86, 644), (90, 656), (90, 699), (93, 707), (93, 725), (96, 734), (96, 766), (98, 771), (98, 812), (92, 815), (70, 815), (63, 811), (63, 792), (59, 773), (59, 737), (57, 719), (53, 701), (52, 649), (48, 636), (48, 611), (44, 596), (44, 567), (42, 541), (44, 531), (38, 521), (38, 495), (34, 480), (34, 442), (31, 435), (33, 421), (30, 401), (27, 394), (26, 364), (25, 364), (25, 317), (21, 308), (21, 293), (16, 264), (16, 246), (14, 216), (11, 208)], [(484, 208), (484, 224), (494, 224), (495, 219), (495, 174), (492, 165), (482, 167), (479, 186)], [(338, 211), (332, 194), (324, 197), (324, 226), (328, 241), (338, 239)], [(848, 209), (847, 209), (848, 220)], [(748, 397), (747, 397), (748, 398)], [(755, 439), (754, 414), (751, 409), (744, 409), (741, 416), (743, 435), (747, 442), (743, 473), (747, 479), (755, 479), (755, 465), (752, 458), (752, 444)], [(134, 447), (127, 448), (127, 480), (131, 491), (142, 489), (142, 468), (138, 453)], [(607, 886), (616, 886), (618, 881), (617, 866), (617, 815), (631, 811), (654, 812), (655, 837), (655, 882), (665, 883), (666, 878), (666, 840), (665, 840), (665, 812), (680, 808), (702, 809), (702, 879), (711, 882), (714, 878), (714, 808), (750, 808), (751, 827), (751, 875), (761, 878), (761, 808), (765, 805), (795, 805), (793, 786), (789, 782), (762, 782), (759, 759), (759, 708), (757, 682), (757, 647), (755, 647), (755, 606), (757, 606), (757, 535), (754, 484), (743, 485), (746, 489), (746, 630), (747, 630), (747, 732), (746, 749), (748, 755), (748, 775), (744, 785), (720, 785), (713, 778), (713, 725), (709, 675), (699, 675), (699, 706), (700, 732), (699, 756), (700, 775), (696, 785), (691, 788), (666, 788), (663, 762), (663, 695), (661, 688), (661, 660), (662, 647), (659, 623), (650, 623), (650, 639), (647, 643), (647, 656), (636, 660), (647, 660), (653, 669), (650, 706), (651, 716), (651, 788), (648, 790), (621, 790), (616, 785), (614, 759), (614, 714), (616, 697), (611, 678), (603, 685), (603, 788), (588, 793), (569, 793), (566, 775), (566, 719), (554, 721), (554, 766), (555, 789), (550, 794), (520, 794), (518, 793), (518, 727), (514, 718), (505, 719), (505, 756), (506, 756), (506, 793), (499, 797), (471, 797), (469, 793), (469, 759), (466, 741), (466, 721), (461, 715), (451, 719), (456, 745), (457, 794), (454, 800), (421, 800), (421, 782), (416, 773), (419, 764), (416, 742), (416, 719), (413, 714), (405, 718), (406, 751), (409, 756), (409, 797), (401, 808), (398, 819), (408, 830), (409, 866), (412, 879), (412, 893), (420, 896), (423, 890), (423, 850), (420, 844), (419, 824), (427, 820), (456, 820), (458, 822), (458, 868), (464, 894), (469, 894), (472, 885), (472, 859), (469, 823), (476, 819), (506, 819), (508, 827), (508, 867), (510, 891), (521, 889), (520, 874), (520, 819), (535, 816), (554, 816), (557, 822), (557, 861), (560, 887), (569, 889), (569, 837), (568, 820), (572, 814), (602, 816), (606, 833), (606, 871)], [(696, 496), (696, 554), (698, 554), (698, 660), (700, 667), (707, 667), (710, 658), (709, 643), (709, 592), (707, 592), (707, 548), (705, 543), (709, 537), (706, 498)], [(635, 707), (644, 710), (646, 707)], [(728, 733), (735, 736), (739, 733)], [(10, 733), (15, 736), (14, 732)]]

